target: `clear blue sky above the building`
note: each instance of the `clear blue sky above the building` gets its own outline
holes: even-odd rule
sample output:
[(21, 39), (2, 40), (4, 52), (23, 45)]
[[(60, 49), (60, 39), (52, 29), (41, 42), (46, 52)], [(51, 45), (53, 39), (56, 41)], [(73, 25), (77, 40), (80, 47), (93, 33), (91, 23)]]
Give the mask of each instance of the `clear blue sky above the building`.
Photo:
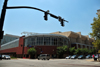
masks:
[[(4, 0), (0, 0), (0, 14)], [(30, 6), (49, 10), (65, 20), (64, 27), (58, 19), (50, 17), (44, 20), (44, 13), (34, 9), (7, 9), (4, 21), (4, 34), (22, 36), (22, 32), (52, 33), (52, 32), (81, 32), (89, 35), (92, 32), (91, 23), (97, 17), (100, 0), (8, 0), (7, 6)]]

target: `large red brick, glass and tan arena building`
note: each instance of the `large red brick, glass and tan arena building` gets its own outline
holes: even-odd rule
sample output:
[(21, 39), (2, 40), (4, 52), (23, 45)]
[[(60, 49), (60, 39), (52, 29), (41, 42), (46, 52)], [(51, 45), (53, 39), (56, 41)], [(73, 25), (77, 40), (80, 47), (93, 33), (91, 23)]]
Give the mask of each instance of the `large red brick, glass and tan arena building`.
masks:
[(57, 47), (67, 45), (77, 48), (93, 49), (93, 39), (88, 36), (81, 35), (81, 32), (53, 32), (49, 34), (32, 34), (22, 36), (18, 39), (2, 44), (0, 53), (10, 54), (16, 57), (29, 57), (27, 51), (34, 47), (37, 50), (36, 56), (39, 54), (50, 54), (57, 57)]

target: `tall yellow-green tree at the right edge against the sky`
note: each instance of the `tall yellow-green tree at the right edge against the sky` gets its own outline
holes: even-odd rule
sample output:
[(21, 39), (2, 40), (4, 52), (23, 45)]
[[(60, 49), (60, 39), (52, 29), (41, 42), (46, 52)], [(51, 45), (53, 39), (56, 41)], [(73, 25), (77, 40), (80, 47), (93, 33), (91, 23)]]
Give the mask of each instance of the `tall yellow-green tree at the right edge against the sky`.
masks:
[(95, 39), (93, 42), (94, 47), (97, 47), (100, 49), (100, 15), (98, 15), (98, 18), (93, 19), (92, 25), (92, 33), (90, 33), (90, 36)]

